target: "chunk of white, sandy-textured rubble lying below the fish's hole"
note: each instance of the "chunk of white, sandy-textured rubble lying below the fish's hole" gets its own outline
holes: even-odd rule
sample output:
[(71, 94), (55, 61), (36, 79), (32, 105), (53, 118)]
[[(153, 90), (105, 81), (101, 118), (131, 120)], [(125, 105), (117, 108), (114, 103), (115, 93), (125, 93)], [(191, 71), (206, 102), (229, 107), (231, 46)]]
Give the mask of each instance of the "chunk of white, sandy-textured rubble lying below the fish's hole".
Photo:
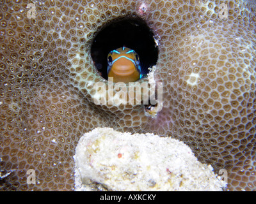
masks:
[(183, 142), (96, 128), (76, 147), (76, 191), (221, 191), (225, 182)]

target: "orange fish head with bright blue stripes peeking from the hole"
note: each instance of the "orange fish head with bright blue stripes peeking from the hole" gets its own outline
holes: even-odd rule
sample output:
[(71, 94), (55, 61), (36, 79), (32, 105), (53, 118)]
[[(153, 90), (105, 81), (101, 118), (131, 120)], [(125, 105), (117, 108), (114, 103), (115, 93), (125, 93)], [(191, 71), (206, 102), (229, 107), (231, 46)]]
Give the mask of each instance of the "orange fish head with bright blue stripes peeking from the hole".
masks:
[(136, 82), (141, 75), (140, 57), (132, 49), (120, 47), (108, 54), (108, 78), (113, 82)]

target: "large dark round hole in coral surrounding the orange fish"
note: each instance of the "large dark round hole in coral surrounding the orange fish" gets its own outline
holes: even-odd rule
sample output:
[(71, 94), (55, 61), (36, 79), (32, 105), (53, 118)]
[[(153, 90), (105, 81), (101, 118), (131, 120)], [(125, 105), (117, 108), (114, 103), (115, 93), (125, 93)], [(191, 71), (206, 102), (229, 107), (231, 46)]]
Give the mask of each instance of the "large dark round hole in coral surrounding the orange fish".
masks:
[(108, 79), (108, 54), (120, 47), (134, 50), (140, 56), (141, 75), (145, 77), (148, 68), (156, 65), (158, 47), (154, 33), (140, 18), (118, 20), (106, 25), (95, 36), (91, 55), (99, 74)]

